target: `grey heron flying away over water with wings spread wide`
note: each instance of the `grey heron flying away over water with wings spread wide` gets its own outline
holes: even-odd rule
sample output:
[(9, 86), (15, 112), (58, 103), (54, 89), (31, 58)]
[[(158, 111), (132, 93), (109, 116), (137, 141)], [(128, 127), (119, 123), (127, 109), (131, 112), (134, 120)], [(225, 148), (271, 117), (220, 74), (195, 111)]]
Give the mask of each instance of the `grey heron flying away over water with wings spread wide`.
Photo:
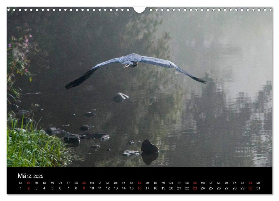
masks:
[(198, 82), (202, 82), (202, 83), (206, 82), (205, 80), (201, 80), (199, 78), (196, 78), (195, 76), (188, 74), (186, 71), (184, 71), (183, 69), (181, 69), (180, 67), (178, 67), (177, 65), (172, 63), (171, 61), (164, 60), (164, 59), (158, 59), (155, 57), (145, 57), (145, 56), (141, 56), (141, 55), (137, 55), (137, 54), (130, 54), (125, 57), (110, 59), (103, 63), (97, 64), (96, 66), (91, 68), (89, 71), (87, 71), (83, 76), (74, 80), (73, 82), (70, 82), (65, 87), (66, 87), (66, 89), (69, 89), (71, 87), (80, 85), (82, 82), (84, 82), (84, 80), (89, 78), (99, 67), (108, 65), (110, 63), (122, 63), (124, 65), (123, 68), (126, 68), (126, 67), (136, 68), (138, 66), (138, 62), (159, 65), (159, 66), (163, 66), (163, 67), (167, 67), (167, 68), (175, 68), (178, 72), (184, 73), (185, 75), (191, 77), (192, 79), (194, 79)]

